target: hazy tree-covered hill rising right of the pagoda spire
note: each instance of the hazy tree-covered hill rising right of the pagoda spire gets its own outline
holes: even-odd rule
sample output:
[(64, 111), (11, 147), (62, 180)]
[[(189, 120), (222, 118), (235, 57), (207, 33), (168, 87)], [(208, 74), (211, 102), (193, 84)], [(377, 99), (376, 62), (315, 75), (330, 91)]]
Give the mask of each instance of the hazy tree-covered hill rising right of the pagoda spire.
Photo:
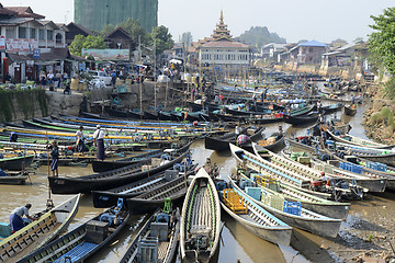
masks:
[(276, 33), (270, 33), (268, 27), (266, 26), (251, 26), (249, 31), (242, 33), (239, 37), (239, 41), (255, 46), (255, 47), (262, 47), (269, 43), (278, 43), (278, 44), (285, 44), (286, 39), (280, 37)]

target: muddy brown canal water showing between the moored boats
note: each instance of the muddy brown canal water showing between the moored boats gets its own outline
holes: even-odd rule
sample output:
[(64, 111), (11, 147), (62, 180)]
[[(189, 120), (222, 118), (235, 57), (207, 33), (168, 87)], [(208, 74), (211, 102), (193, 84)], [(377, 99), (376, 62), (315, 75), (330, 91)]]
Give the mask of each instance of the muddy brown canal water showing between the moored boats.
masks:
[[(345, 116), (342, 113), (338, 113), (337, 117), (341, 117), (343, 122), (349, 123), (353, 128), (351, 134), (360, 137), (365, 137), (362, 123), (362, 114), (364, 106), (359, 108), (358, 114), (354, 117)], [(334, 117), (334, 116), (329, 116)], [(290, 135), (294, 133), (302, 135), (305, 133), (304, 128), (290, 127), (287, 124), (282, 124), (283, 129)], [(266, 133), (270, 135), (278, 130), (276, 124), (268, 125)], [(308, 127), (307, 127), (308, 128)], [(211, 158), (212, 162), (216, 162), (221, 168), (221, 176), (226, 178), (230, 174), (235, 168), (235, 160), (230, 153), (217, 153), (212, 150), (204, 148), (204, 141), (196, 141), (192, 146), (192, 157), (195, 162), (203, 165), (206, 158)], [(91, 174), (91, 167), (60, 167), (60, 176), (81, 176)], [(33, 204), (31, 209), (32, 213), (38, 211), (45, 207), (46, 201), (48, 199), (48, 184), (47, 184), (47, 167), (41, 167), (36, 170), (36, 174), (31, 176), (31, 180), (26, 185), (10, 186), (0, 185), (1, 201), (0, 201), (0, 221), (8, 221), (9, 215), (12, 209), (18, 206), (22, 206), (26, 203)], [(388, 196), (390, 195), (390, 196)], [(55, 205), (59, 204), (70, 196), (67, 195), (52, 195), (50, 198)], [(292, 247), (279, 247), (276, 244), (261, 240), (250, 232), (248, 232), (241, 225), (234, 221), (230, 217), (223, 214), (222, 220), (225, 222), (225, 227), (222, 232), (222, 240), (219, 245), (219, 252), (217, 254), (216, 262), (341, 262), (341, 249), (352, 250), (352, 243), (358, 247), (358, 239), (356, 235), (349, 232), (354, 226), (360, 222), (372, 221), (374, 218), (372, 215), (376, 211), (379, 206), (387, 204), (390, 207), (394, 205), (388, 204), (391, 199), (395, 199), (393, 194), (383, 194), (380, 196), (370, 197), (368, 201), (352, 203), (350, 215), (348, 219), (342, 224), (340, 235), (337, 239), (324, 239), (315, 235), (307, 233), (302, 230), (294, 231)], [(93, 208), (91, 195), (82, 195), (79, 211), (76, 218), (69, 226), (69, 230), (78, 227), (84, 221), (91, 219), (103, 209)], [(387, 215), (391, 216), (391, 215)], [(392, 215), (393, 216), (393, 215)], [(390, 217), (391, 218), (391, 217)], [(394, 218), (394, 217), (392, 217)], [(111, 244), (102, 249), (93, 258), (87, 262), (116, 262), (125, 253), (128, 243), (134, 238), (138, 228), (144, 222), (145, 216), (135, 216), (131, 219), (127, 228), (121, 232)], [(332, 249), (337, 248), (337, 251)], [(179, 259), (177, 259), (179, 262)]]

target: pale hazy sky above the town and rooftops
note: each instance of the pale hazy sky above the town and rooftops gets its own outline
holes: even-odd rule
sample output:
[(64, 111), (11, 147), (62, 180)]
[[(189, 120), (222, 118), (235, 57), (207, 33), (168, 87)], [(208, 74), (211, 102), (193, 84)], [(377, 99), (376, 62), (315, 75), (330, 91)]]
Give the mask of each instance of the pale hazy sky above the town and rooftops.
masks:
[[(125, 0), (126, 1), (126, 0)], [(0, 0), (3, 5), (30, 5), (54, 22), (74, 19), (72, 0)], [(159, 24), (176, 41), (190, 31), (193, 39), (210, 36), (224, 10), (225, 23), (238, 36), (250, 26), (268, 26), (287, 42), (316, 39), (348, 42), (371, 33), (370, 15), (395, 7), (393, 0), (159, 0)]]

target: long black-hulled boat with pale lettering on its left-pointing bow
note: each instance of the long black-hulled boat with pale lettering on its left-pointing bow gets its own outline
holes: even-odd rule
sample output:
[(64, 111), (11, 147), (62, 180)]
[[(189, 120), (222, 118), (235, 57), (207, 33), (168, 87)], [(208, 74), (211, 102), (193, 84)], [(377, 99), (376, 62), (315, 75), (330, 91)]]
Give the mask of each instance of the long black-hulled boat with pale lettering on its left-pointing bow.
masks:
[(174, 150), (174, 157), (161, 165), (143, 171), (143, 165), (150, 165), (151, 160), (140, 161), (136, 164), (120, 168), (113, 171), (79, 176), (79, 178), (54, 178), (49, 176), (49, 187), (53, 194), (75, 194), (90, 193), (94, 190), (109, 190), (121, 185), (136, 182), (137, 180), (153, 176), (161, 171), (172, 168), (180, 163), (189, 153), (189, 147), (192, 142), (185, 145), (179, 150)]

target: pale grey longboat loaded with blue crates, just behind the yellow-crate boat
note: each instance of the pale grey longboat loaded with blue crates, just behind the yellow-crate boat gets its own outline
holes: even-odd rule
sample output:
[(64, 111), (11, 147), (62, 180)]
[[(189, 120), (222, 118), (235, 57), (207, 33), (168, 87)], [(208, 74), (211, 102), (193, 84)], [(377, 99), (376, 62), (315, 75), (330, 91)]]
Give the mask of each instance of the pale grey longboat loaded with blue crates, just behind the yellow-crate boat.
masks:
[[(240, 192), (244, 191), (237, 185), (237, 182), (235, 182), (233, 179), (229, 178), (229, 181), (234, 188), (236, 188)], [(260, 190), (261, 190), (261, 195), (272, 196), (271, 193), (266, 192), (262, 188), (260, 188)], [(301, 210), (301, 215), (294, 215), (294, 214), (278, 209), (275, 207), (266, 205), (261, 201), (257, 201), (257, 199), (252, 199), (252, 201), (256, 202), (261, 207), (263, 207), (270, 214), (272, 214), (273, 216), (279, 218), (280, 220), (289, 224), (290, 226), (297, 227), (297, 228), (304, 229), (306, 231), (309, 231), (309, 232), (313, 232), (313, 233), (316, 233), (316, 235), (323, 236), (323, 237), (336, 238), (338, 235), (341, 219), (325, 217), (323, 215), (311, 211), (303, 207)]]

